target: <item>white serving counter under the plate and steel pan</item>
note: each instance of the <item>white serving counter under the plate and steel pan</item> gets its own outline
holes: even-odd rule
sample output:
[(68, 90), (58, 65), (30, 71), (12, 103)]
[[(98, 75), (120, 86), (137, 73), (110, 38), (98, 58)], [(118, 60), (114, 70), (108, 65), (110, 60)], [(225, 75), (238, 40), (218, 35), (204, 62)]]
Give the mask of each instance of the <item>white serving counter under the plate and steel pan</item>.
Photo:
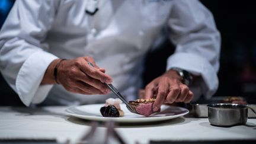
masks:
[(187, 115), (147, 123), (90, 121), (70, 116), (69, 107), (0, 107), (0, 142), (8, 143), (200, 143), (256, 142), (256, 119), (216, 127)]

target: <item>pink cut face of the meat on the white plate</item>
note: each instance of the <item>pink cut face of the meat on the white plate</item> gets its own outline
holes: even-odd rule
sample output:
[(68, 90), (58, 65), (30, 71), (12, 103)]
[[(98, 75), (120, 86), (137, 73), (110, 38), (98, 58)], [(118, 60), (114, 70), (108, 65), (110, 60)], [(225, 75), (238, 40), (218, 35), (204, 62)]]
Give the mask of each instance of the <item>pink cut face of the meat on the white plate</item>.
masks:
[(153, 103), (139, 104), (136, 107), (136, 111), (143, 116), (150, 116), (153, 113)]

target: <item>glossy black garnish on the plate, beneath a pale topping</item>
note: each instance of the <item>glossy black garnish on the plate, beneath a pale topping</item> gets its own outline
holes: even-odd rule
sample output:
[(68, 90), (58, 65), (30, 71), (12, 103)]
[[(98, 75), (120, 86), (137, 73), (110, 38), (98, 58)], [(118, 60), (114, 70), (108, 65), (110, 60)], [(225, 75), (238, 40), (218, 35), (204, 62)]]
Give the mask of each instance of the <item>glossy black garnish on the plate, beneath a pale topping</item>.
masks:
[(119, 111), (114, 105), (108, 105), (107, 107), (101, 107), (100, 109), (103, 117), (120, 117)]

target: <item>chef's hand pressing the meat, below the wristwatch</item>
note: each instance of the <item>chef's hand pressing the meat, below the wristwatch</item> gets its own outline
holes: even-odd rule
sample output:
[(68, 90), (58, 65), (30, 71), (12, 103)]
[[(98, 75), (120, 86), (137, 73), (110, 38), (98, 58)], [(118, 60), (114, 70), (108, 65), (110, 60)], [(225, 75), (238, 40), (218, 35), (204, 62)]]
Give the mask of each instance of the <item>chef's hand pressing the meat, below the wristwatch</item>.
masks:
[(153, 111), (159, 111), (164, 103), (184, 102), (189, 103), (193, 92), (181, 82), (181, 78), (174, 70), (169, 70), (156, 79), (153, 79), (145, 88), (145, 98), (156, 95)]

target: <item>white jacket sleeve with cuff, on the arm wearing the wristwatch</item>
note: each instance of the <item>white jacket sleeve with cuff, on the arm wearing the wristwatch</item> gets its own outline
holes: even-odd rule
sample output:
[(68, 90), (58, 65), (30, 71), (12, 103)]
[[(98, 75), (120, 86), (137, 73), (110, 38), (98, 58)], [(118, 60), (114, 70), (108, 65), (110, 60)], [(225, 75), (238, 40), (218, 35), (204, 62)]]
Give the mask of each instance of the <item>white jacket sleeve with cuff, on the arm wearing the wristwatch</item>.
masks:
[(168, 28), (176, 49), (168, 57), (167, 70), (178, 67), (199, 75), (190, 87), (194, 100), (200, 95), (212, 97), (219, 85), (220, 55), (220, 33), (212, 13), (196, 0), (174, 1)]

